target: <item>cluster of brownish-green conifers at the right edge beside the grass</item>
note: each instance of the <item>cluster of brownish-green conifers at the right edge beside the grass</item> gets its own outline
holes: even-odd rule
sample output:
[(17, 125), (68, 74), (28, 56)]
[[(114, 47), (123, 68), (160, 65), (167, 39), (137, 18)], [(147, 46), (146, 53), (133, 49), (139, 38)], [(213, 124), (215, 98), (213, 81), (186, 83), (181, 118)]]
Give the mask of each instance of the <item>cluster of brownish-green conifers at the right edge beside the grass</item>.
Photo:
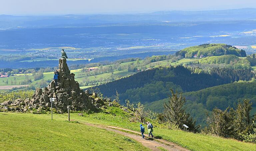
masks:
[(208, 126), (205, 130), (218, 136), (243, 140), (256, 127), (250, 116), (251, 106), (250, 100), (244, 99), (242, 103), (238, 102), (236, 110), (230, 107), (224, 111), (214, 108), (210, 115), (207, 114)]

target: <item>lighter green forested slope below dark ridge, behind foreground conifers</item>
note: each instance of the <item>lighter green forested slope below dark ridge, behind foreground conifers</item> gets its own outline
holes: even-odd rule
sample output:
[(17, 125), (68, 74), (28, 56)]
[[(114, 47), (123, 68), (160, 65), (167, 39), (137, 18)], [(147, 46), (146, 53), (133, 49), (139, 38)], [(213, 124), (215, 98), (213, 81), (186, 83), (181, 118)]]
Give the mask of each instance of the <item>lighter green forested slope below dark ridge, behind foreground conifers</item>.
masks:
[[(252, 114), (256, 112), (256, 81), (250, 82), (234, 82), (199, 91), (187, 92), (183, 96), (186, 98), (187, 111), (197, 119), (199, 124), (205, 125), (206, 112), (212, 111), (215, 107), (225, 110), (227, 107), (234, 108), (238, 101), (243, 99), (251, 99)], [(155, 101), (145, 104), (156, 112), (163, 112), (163, 104), (168, 99)]]

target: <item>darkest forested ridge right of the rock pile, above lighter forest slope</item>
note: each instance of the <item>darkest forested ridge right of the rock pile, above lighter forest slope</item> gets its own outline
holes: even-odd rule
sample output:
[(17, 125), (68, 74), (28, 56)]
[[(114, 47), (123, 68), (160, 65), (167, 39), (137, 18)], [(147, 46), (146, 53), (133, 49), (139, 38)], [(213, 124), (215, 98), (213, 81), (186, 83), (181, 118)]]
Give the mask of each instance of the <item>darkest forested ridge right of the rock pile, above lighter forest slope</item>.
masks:
[(238, 80), (248, 81), (254, 76), (249, 69), (212, 68), (209, 73), (194, 71), (181, 65), (154, 68), (93, 88), (99, 88), (108, 97), (118, 91), (121, 101), (129, 99), (133, 103), (146, 103), (166, 98), (170, 88), (183, 92), (198, 91)]

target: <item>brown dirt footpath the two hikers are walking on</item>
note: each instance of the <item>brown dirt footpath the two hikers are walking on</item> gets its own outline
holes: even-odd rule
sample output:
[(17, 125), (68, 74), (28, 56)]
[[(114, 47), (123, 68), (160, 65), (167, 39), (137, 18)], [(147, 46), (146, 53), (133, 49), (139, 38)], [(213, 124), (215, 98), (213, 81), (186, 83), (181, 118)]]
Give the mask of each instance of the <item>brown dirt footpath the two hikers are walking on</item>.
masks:
[[(93, 127), (98, 127), (102, 129), (106, 129), (109, 131), (116, 132), (118, 134), (124, 135), (126, 137), (129, 137), (131, 139), (134, 139), (138, 142), (140, 142), (143, 146), (148, 147), (149, 149), (153, 151), (161, 151), (158, 147), (164, 148), (168, 151), (189, 151), (186, 148), (183, 148), (175, 143), (160, 139), (160, 138), (151, 138), (146, 136), (146, 139), (141, 138), (141, 133), (125, 128), (120, 128), (120, 127), (115, 127), (115, 126), (107, 126), (107, 125), (98, 125), (98, 124), (92, 124), (92, 123), (85, 123), (81, 122), (82, 124), (88, 125), (88, 126), (93, 126)], [(124, 132), (127, 131), (127, 132)]]

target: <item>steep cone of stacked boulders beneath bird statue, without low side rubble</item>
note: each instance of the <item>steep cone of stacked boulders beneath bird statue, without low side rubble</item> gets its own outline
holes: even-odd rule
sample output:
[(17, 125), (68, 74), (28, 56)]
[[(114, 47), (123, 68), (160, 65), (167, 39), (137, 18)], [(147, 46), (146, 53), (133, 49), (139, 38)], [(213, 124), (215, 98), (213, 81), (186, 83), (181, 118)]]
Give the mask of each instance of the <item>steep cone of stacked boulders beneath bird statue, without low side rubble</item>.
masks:
[(36, 89), (33, 100), (51, 107), (50, 98), (54, 98), (53, 108), (62, 112), (66, 112), (68, 106), (74, 111), (94, 109), (93, 98), (80, 89), (79, 83), (75, 81), (75, 74), (70, 73), (65, 58), (59, 59), (58, 72), (58, 85), (52, 81), (47, 87)]

